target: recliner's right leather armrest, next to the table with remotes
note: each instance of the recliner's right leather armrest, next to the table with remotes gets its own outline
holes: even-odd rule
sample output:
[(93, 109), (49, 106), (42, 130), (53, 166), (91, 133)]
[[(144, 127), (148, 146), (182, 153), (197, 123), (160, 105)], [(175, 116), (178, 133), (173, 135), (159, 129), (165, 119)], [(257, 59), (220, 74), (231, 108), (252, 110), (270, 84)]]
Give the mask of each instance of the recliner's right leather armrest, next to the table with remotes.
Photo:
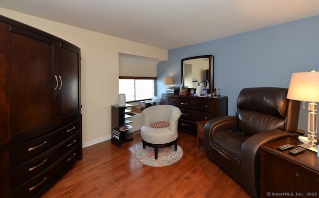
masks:
[[(257, 195), (257, 192), (260, 192), (259, 148), (267, 142), (294, 135), (297, 134), (280, 129), (274, 129), (252, 135), (243, 143), (240, 157), (241, 175), (243, 186), (249, 195), (252, 197), (260, 197), (260, 195)], [(255, 176), (258, 178), (255, 178)]]

